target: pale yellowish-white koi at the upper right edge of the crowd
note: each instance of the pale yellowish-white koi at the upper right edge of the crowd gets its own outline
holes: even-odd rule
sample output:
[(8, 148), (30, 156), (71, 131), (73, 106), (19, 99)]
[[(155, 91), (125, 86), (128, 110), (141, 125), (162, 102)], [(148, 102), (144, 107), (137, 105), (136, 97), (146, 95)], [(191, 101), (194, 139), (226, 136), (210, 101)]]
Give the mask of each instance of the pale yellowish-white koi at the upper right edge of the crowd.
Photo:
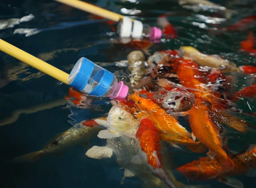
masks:
[(180, 50), (185, 58), (195, 61), (200, 66), (214, 67), (221, 69), (222, 72), (240, 72), (233, 62), (222, 59), (218, 55), (206, 55), (199, 52), (192, 46), (181, 46)]

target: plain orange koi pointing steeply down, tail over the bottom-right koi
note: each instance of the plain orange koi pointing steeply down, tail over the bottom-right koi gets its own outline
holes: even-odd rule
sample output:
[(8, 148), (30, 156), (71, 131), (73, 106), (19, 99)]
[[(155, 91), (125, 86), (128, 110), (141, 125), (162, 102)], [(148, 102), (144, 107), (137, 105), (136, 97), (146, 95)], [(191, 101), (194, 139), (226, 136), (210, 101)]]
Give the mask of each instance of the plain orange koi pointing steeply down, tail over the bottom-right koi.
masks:
[(227, 172), (234, 168), (234, 162), (227, 156), (222, 148), (222, 137), (220, 136), (220, 128), (212, 123), (209, 112), (212, 111), (212, 105), (209, 101), (198, 98), (194, 106), (183, 115), (189, 115), (189, 123), (192, 129), (192, 138), (197, 138), (203, 143), (209, 152), (210, 158), (216, 158), (221, 162), (221, 172)]

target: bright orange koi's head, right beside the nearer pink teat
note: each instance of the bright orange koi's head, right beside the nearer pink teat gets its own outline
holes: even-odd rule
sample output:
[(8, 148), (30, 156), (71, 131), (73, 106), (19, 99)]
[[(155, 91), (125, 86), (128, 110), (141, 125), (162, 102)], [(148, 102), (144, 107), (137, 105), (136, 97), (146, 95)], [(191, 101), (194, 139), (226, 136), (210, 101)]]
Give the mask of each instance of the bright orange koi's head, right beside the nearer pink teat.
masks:
[(138, 110), (142, 110), (143, 112), (148, 112), (152, 110), (155, 105), (154, 101), (150, 99), (143, 98), (139, 95), (139, 92), (135, 92), (128, 97), (129, 100), (134, 102), (134, 106), (138, 108)]

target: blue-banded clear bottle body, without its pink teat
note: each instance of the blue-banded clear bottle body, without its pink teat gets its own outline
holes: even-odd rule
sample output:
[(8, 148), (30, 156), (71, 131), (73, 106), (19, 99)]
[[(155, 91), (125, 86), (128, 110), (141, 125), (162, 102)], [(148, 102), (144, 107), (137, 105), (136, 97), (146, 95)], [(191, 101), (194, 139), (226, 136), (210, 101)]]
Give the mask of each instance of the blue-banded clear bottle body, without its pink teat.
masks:
[(80, 58), (79, 61), (77, 61), (70, 72), (70, 77), (68, 79), (69, 85), (75, 87), (82, 93), (85, 93), (84, 88), (87, 85), (95, 66), (100, 69), (91, 79), (99, 84), (90, 93), (86, 94), (97, 97), (105, 95), (111, 86), (114, 75), (108, 70), (94, 64), (87, 58)]

